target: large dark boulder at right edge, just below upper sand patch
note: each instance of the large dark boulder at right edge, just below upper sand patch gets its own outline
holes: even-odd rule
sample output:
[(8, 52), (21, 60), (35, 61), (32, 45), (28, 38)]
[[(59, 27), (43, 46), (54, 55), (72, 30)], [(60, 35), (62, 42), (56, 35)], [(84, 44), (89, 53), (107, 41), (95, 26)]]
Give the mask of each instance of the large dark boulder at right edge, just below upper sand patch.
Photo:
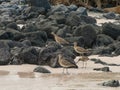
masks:
[(115, 25), (112, 23), (104, 23), (102, 25), (103, 27), (103, 34), (106, 34), (113, 39), (117, 39), (117, 37), (120, 35), (120, 25)]

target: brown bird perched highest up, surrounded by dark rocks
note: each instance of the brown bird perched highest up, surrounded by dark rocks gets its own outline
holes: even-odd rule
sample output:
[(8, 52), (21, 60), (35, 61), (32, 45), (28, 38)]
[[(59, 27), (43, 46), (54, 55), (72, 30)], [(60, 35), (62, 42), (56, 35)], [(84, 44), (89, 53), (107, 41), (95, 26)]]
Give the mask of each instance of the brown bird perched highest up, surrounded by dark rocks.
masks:
[(56, 41), (58, 44), (60, 44), (61, 46), (62, 46), (62, 45), (69, 44), (68, 41), (66, 41), (66, 40), (63, 39), (62, 37), (56, 35), (54, 32), (51, 32), (51, 34), (54, 36), (55, 41)]

